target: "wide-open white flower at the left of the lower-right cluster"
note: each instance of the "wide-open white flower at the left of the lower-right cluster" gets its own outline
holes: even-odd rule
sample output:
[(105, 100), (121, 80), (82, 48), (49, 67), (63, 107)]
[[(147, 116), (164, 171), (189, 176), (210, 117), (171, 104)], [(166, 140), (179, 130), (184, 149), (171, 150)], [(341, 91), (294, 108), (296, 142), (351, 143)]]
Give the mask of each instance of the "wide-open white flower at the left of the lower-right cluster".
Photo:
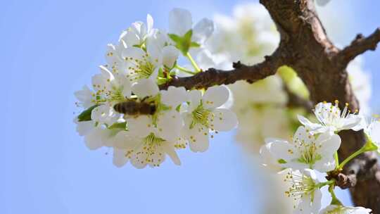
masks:
[(341, 145), (341, 138), (338, 134), (329, 132), (316, 136), (300, 126), (292, 141), (270, 139), (267, 143), (271, 143), (270, 153), (284, 167), (296, 170), (311, 168), (319, 172), (328, 172), (335, 168), (334, 153)]

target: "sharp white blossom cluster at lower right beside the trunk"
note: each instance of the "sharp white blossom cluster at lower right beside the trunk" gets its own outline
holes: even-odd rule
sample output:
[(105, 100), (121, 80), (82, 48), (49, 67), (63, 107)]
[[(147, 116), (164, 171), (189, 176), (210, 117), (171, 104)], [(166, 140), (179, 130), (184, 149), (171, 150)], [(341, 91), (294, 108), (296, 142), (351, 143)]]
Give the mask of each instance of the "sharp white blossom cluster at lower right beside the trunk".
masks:
[[(267, 138), (265, 145), (260, 149), (262, 158), (265, 159), (266, 165), (279, 165), (280, 168), (285, 168), (279, 172), (279, 175), (286, 184), (285, 195), (289, 198), (289, 203), (293, 203), (293, 213), (369, 213), (371, 211), (369, 209), (343, 206), (334, 195), (334, 179), (319, 182), (315, 172), (327, 173), (340, 170), (358, 154), (378, 150), (379, 120), (375, 118), (367, 122), (357, 112), (351, 113), (348, 104), (341, 110), (338, 101), (334, 104), (318, 103), (314, 114), (316, 122), (298, 115), (302, 125), (298, 127), (290, 141)], [(339, 164), (337, 151), (341, 146), (341, 138), (338, 132), (362, 129), (367, 135), (367, 144)], [(331, 206), (320, 210), (322, 199), (320, 189), (325, 186), (329, 186), (333, 200)]]

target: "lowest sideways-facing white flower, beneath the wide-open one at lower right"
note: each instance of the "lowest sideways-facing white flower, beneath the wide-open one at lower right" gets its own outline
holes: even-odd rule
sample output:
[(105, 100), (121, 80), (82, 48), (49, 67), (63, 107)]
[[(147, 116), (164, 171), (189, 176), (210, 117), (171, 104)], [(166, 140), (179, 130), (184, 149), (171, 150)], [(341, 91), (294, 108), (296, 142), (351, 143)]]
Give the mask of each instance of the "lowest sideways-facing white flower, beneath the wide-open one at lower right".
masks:
[(279, 172), (286, 185), (285, 195), (293, 203), (293, 213), (317, 214), (321, 208), (322, 192), (315, 172), (286, 169)]

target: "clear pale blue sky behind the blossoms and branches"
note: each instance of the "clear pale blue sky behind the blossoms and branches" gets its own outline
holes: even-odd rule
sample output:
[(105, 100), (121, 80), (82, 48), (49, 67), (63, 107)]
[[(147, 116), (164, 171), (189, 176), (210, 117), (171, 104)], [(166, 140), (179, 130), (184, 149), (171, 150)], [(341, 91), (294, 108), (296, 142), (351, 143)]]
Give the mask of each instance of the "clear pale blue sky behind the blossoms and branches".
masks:
[[(1, 1), (0, 213), (260, 213), (262, 178), (232, 132), (219, 134), (206, 153), (181, 151), (181, 167), (118, 169), (108, 150), (89, 151), (72, 123), (72, 93), (89, 83), (106, 44), (130, 23), (151, 13), (166, 27), (173, 7), (198, 20), (231, 14), (241, 2)], [(350, 20), (337, 36), (341, 44), (379, 26), (379, 2), (333, 0), (329, 7)], [(379, 58), (380, 51), (364, 55), (373, 83)], [(379, 86), (373, 91), (376, 108)]]

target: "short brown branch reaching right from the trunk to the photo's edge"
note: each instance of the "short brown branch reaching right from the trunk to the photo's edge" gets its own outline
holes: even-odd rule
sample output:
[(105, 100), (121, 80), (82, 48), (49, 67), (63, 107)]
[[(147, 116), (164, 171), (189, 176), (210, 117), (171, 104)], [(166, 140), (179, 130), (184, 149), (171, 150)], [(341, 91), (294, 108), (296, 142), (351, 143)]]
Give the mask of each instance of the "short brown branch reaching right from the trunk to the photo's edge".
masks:
[(353, 42), (338, 53), (336, 56), (336, 63), (343, 65), (343, 68), (346, 68), (348, 63), (350, 63), (350, 61), (356, 56), (359, 56), (368, 50), (374, 51), (379, 42), (380, 27), (376, 28), (376, 30), (368, 37), (364, 37), (362, 34), (357, 34)]

